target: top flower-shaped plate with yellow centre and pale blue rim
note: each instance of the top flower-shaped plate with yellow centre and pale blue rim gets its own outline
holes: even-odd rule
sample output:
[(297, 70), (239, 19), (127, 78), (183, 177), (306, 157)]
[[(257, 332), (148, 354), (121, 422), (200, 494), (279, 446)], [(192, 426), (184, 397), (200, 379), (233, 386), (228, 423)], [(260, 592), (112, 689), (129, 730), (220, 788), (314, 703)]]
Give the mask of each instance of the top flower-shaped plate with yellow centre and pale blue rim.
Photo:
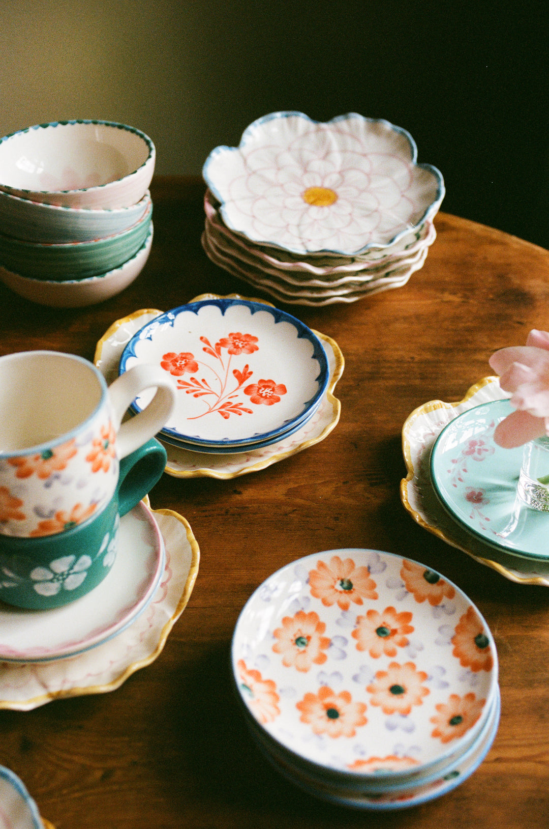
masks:
[(266, 115), (238, 147), (215, 148), (203, 176), (231, 230), (297, 254), (392, 245), (431, 219), (445, 193), (406, 130), (356, 113), (324, 124)]

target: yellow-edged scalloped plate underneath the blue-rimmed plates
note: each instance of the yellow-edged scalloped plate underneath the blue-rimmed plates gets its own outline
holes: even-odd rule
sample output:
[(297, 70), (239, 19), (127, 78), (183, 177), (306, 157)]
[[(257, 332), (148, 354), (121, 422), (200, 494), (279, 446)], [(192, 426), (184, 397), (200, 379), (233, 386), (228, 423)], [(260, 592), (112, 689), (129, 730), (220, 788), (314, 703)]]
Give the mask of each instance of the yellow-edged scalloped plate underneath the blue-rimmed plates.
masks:
[[(192, 301), (205, 296), (215, 294), (202, 294)], [(108, 383), (118, 376), (118, 362), (125, 344), (145, 322), (161, 313), (156, 308), (143, 308), (113, 322), (108, 328), (104, 337), (99, 340), (94, 356), (95, 365), (103, 372)], [(340, 419), (340, 400), (335, 398), (333, 392), (344, 370), (344, 357), (334, 340), (319, 332), (315, 334), (320, 338), (326, 352), (330, 380), (319, 408), (307, 424), (276, 444), (238, 454), (191, 452), (164, 444), (168, 454), (166, 473), (173, 478), (237, 478), (240, 475), (258, 472), (324, 440), (332, 429), (335, 429)]]

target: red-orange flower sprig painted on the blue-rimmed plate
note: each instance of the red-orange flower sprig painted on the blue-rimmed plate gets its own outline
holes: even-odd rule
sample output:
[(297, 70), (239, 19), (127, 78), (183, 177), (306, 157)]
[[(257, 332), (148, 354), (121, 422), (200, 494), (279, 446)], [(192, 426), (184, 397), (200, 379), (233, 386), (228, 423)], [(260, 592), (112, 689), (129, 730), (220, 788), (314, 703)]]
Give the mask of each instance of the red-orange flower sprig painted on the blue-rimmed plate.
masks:
[[(200, 337), (204, 343), (202, 351), (214, 358), (214, 364), (210, 365), (204, 361), (197, 360), (190, 351), (168, 351), (162, 356), (161, 367), (177, 378), (177, 387), (193, 397), (209, 397), (207, 408), (200, 414), (190, 416), (189, 420), (204, 417), (205, 414), (218, 412), (224, 419), (229, 419), (231, 414), (253, 414), (253, 409), (244, 405), (243, 400), (238, 400), (238, 392), (243, 391), (253, 405), (272, 406), (280, 403), (282, 395), (287, 394), (287, 388), (283, 383), (277, 383), (272, 379), (260, 379), (257, 383), (244, 384), (253, 375), (248, 363), (242, 368), (233, 368), (230, 371), (231, 361), (234, 356), (242, 354), (253, 354), (259, 350), (258, 337), (253, 334), (241, 332), (229, 333), (229, 337), (221, 337), (212, 346), (207, 337)], [(224, 350), (227, 354), (224, 355)], [(203, 366), (208, 374), (212, 375), (211, 381), (205, 376), (198, 377), (200, 366)], [(229, 383), (230, 376), (234, 377), (236, 385)], [(184, 379), (184, 375), (190, 375)], [(243, 388), (244, 386), (244, 388)]]

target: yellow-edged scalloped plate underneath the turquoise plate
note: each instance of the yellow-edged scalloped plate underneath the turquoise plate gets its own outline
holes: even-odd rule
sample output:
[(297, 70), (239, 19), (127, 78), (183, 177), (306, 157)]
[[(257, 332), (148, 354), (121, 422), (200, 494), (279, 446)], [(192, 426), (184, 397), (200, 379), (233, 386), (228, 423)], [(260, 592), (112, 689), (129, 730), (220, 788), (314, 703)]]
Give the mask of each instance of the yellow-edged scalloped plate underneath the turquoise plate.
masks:
[(526, 569), (527, 561), (519, 560), (518, 556), (505, 557), (501, 551), (466, 531), (442, 507), (431, 483), (431, 448), (442, 429), (462, 412), (491, 400), (507, 399), (508, 396), (500, 389), (498, 378), (489, 376), (472, 385), (459, 402), (430, 400), (412, 411), (402, 427), (402, 453), (407, 477), (401, 481), (401, 500), (417, 524), (480, 564), (518, 584), (549, 587), (549, 572), (547, 569), (543, 572), (542, 563), (534, 563)]

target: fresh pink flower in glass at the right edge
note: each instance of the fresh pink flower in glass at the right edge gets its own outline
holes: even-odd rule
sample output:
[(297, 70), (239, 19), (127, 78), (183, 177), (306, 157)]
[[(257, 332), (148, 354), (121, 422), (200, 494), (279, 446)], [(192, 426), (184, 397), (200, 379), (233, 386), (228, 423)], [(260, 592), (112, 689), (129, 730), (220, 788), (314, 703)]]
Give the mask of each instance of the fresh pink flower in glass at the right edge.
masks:
[(549, 333), (533, 329), (525, 346), (500, 348), (489, 364), (515, 408), (496, 427), (495, 442), (514, 448), (549, 434)]

